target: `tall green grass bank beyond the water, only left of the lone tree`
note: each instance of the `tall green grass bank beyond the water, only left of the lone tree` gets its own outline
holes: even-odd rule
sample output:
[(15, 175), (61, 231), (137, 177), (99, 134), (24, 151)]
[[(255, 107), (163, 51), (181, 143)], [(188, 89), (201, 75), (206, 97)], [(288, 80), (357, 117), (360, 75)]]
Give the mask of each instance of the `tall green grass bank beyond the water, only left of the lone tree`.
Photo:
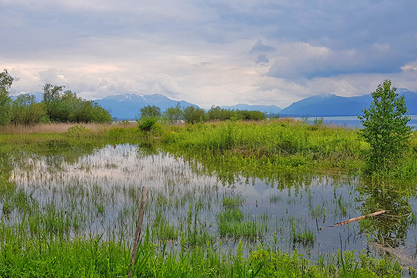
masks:
[(196, 124), (185, 129), (173, 128), (163, 134), (162, 140), (204, 155), (218, 152), (252, 161), (256, 158), (264, 164), (344, 170), (359, 167), (360, 152), (366, 147), (354, 129), (327, 126), (313, 129), (302, 123), (274, 121)]

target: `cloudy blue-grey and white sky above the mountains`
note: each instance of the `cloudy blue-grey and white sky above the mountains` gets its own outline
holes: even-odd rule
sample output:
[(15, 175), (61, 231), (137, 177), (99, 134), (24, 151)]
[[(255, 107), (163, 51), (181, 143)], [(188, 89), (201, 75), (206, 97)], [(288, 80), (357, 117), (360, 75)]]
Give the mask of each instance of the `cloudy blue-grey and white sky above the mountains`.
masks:
[(202, 108), (417, 91), (415, 0), (0, 0), (12, 93), (160, 93)]

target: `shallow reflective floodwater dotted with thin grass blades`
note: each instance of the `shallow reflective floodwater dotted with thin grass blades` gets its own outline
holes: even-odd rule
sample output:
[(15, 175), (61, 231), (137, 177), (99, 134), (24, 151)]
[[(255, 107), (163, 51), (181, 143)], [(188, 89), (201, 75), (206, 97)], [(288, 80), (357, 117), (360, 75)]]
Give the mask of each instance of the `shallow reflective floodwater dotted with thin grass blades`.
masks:
[[(343, 175), (291, 181), (285, 175), (279, 180), (236, 175), (231, 182), (198, 163), (133, 145), (108, 146), (73, 161), (35, 154), (12, 161), (10, 181), (17, 188), (39, 206), (54, 206), (76, 218), (72, 237), (97, 234), (129, 241), (146, 186), (145, 224), (155, 242), (174, 248), (208, 241), (233, 252), (241, 241), (248, 249), (259, 244), (284, 252), (297, 249), (313, 260), (338, 250), (389, 252), (415, 265), (416, 197), (403, 196), (391, 185)], [(240, 215), (233, 224), (245, 223), (256, 231), (222, 230), (230, 199), (242, 200), (233, 206)], [(331, 227), (382, 209), (388, 212)], [(21, 217), (19, 212), (14, 216)], [(196, 242), (191, 243), (190, 234)]]

